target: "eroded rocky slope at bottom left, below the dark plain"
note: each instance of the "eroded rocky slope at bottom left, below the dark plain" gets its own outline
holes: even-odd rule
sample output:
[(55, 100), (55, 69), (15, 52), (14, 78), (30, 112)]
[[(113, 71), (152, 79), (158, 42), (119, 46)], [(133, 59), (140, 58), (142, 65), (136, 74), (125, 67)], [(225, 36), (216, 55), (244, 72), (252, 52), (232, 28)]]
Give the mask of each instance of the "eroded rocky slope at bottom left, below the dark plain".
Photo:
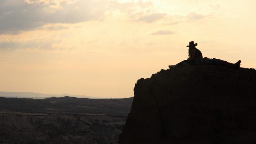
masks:
[(125, 117), (0, 114), (0, 144), (116, 144)]

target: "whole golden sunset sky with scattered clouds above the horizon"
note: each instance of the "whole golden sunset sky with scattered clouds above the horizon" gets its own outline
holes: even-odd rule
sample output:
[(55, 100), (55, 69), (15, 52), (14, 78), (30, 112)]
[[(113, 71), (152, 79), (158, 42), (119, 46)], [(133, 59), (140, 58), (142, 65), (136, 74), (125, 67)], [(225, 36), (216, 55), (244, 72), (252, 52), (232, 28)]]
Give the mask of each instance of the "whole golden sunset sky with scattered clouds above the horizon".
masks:
[(0, 91), (127, 98), (188, 57), (256, 68), (255, 0), (0, 0)]

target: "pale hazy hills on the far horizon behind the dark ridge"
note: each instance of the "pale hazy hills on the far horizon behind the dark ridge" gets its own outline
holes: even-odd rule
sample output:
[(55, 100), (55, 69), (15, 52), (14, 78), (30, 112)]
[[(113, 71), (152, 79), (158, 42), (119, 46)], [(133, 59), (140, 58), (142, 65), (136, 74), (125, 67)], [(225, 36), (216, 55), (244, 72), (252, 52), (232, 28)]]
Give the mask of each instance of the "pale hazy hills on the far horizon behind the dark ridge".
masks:
[(44, 99), (49, 97), (77, 97), (77, 98), (90, 98), (90, 99), (97, 99), (95, 97), (84, 96), (84, 95), (69, 95), (69, 94), (62, 94), (62, 95), (54, 95), (54, 94), (44, 94), (44, 93), (35, 93), (35, 92), (5, 92), (0, 91), (0, 97), (17, 97), (17, 98), (36, 98)]

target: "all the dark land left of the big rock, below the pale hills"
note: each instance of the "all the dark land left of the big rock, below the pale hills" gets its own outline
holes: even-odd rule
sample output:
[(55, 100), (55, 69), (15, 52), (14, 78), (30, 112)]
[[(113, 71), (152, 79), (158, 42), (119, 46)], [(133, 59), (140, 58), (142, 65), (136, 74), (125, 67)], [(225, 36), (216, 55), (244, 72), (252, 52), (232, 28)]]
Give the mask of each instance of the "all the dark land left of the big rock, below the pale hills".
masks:
[(0, 144), (115, 144), (132, 100), (0, 97)]

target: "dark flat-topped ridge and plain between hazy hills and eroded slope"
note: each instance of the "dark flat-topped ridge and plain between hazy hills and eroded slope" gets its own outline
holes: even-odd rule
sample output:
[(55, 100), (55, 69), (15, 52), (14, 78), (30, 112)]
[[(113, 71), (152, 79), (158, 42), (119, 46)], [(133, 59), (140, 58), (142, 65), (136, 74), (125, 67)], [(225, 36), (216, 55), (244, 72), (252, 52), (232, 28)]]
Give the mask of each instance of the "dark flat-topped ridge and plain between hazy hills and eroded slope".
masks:
[(69, 96), (45, 99), (0, 97), (0, 115), (1, 110), (8, 110), (26, 113), (100, 114), (126, 117), (131, 110), (132, 101), (133, 97), (123, 99), (89, 99)]

